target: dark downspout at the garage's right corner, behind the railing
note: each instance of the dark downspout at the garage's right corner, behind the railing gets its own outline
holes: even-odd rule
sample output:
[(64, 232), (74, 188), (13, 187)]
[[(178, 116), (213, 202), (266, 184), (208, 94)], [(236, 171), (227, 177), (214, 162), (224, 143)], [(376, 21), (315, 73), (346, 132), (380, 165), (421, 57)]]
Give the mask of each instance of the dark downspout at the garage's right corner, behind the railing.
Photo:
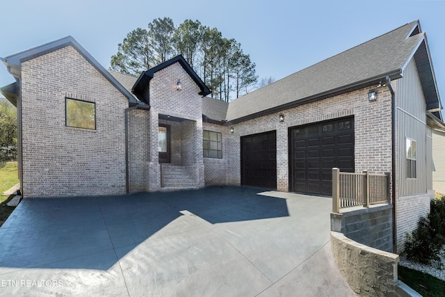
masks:
[(387, 86), (391, 92), (391, 200), (392, 200), (392, 251), (397, 252), (397, 211), (396, 211), (396, 95), (391, 86), (391, 79), (386, 78)]

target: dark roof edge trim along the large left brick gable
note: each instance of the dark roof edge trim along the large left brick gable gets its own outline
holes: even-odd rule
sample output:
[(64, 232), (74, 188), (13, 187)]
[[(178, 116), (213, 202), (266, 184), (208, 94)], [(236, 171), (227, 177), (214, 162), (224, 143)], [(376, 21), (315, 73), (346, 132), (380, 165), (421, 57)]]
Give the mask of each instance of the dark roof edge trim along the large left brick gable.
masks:
[(40, 45), (39, 47), (33, 47), (32, 49), (27, 49), (26, 51), (21, 51), (17, 54), (13, 54), (7, 56), (6, 58), (0, 58), (3, 61), (3, 64), (8, 67), (8, 71), (13, 74), (15, 77), (21, 77), (21, 67), (22, 63), (25, 61), (32, 60), (33, 58), (37, 58), (39, 56), (43, 56), (44, 54), (49, 54), (52, 51), (56, 51), (58, 49), (62, 49), (64, 47), (72, 46), (76, 51), (79, 52), (93, 67), (96, 68), (115, 88), (117, 88), (120, 93), (122, 93), (131, 104), (137, 104), (138, 101), (136, 98), (129, 93), (127, 89), (125, 89), (106, 69), (100, 65), (99, 62), (93, 58), (86, 49), (84, 49), (79, 42), (77, 42), (72, 36), (67, 36), (65, 38), (61, 38), (59, 40), (55, 40), (53, 42), (49, 42), (44, 45)]

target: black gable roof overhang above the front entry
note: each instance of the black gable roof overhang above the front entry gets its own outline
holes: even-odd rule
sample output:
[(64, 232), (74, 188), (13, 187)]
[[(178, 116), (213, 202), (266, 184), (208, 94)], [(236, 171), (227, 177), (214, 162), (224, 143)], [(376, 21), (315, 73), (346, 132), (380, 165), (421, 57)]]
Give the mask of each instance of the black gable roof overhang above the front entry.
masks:
[(201, 90), (199, 95), (207, 96), (211, 93), (211, 90), (206, 86), (204, 81), (202, 81), (202, 79), (196, 74), (195, 70), (193, 70), (193, 68), (190, 65), (188, 65), (186, 59), (182, 55), (175, 56), (175, 58), (171, 58), (170, 60), (165, 61), (164, 63), (161, 63), (155, 67), (150, 68), (145, 72), (142, 72), (138, 77), (136, 83), (134, 84), (133, 88), (131, 89), (131, 91), (136, 95), (136, 97), (138, 97), (138, 99), (143, 101), (144, 100), (143, 91), (149, 84), (149, 81), (154, 77), (154, 74), (159, 70), (163, 70), (164, 68), (173, 65), (175, 63), (179, 63), (179, 65), (181, 65), (181, 67), (183, 67), (184, 70), (186, 70), (191, 79), (195, 81), (195, 83)]

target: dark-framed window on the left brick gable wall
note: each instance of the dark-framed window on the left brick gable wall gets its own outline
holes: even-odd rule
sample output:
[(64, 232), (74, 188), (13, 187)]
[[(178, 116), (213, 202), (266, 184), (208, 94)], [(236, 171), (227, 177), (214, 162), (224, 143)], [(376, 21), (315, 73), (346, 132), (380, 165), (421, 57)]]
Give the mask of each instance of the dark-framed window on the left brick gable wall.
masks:
[(65, 98), (65, 125), (83, 129), (96, 129), (96, 104)]

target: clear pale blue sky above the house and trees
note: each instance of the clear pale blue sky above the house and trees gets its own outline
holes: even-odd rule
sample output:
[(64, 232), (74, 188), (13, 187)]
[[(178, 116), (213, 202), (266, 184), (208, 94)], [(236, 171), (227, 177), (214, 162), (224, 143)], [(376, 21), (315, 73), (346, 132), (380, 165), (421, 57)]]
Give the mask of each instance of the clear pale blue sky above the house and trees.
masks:
[[(6, 0), (0, 9), (1, 57), (72, 35), (108, 69), (133, 29), (158, 17), (176, 26), (198, 19), (241, 42), (260, 79), (275, 80), (419, 19), (445, 96), (445, 0)], [(13, 81), (0, 65), (0, 85)]]

